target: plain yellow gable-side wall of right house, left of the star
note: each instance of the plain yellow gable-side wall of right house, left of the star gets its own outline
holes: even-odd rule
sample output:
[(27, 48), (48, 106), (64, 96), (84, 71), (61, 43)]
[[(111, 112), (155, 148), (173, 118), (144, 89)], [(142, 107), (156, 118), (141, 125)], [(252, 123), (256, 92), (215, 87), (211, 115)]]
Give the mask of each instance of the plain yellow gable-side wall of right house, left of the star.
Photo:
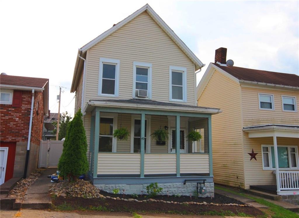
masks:
[(239, 85), (215, 70), (198, 97), (198, 106), (223, 110), (212, 116), (214, 182), (244, 188)]

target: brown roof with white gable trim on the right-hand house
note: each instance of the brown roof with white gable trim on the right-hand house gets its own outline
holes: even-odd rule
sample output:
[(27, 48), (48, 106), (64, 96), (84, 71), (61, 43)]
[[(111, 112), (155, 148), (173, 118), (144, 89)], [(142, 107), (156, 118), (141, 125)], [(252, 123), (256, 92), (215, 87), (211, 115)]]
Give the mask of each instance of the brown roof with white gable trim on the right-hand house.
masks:
[(238, 84), (240, 84), (240, 82), (244, 82), (257, 85), (299, 89), (299, 76), (296, 74), (278, 73), (266, 70), (255, 70), (244, 67), (234, 67), (218, 63), (210, 63), (196, 88), (197, 99), (199, 96), (201, 96), (215, 70), (219, 71)]

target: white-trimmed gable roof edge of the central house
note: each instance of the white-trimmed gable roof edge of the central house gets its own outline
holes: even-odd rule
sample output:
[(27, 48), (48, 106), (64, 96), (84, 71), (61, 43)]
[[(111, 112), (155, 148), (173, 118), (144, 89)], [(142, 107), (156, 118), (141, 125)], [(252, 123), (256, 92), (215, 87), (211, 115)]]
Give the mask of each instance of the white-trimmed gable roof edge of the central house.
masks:
[(179, 46), (179, 48), (186, 54), (186, 56), (195, 64), (195, 70), (199, 70), (200, 68), (204, 67), (205, 64), (203, 64), (196, 56), (195, 54), (187, 47), (187, 45), (176, 35), (176, 33), (173, 32), (172, 29), (158, 16), (158, 14), (149, 6), (149, 4), (144, 5), (139, 10), (132, 13), (127, 18), (123, 19), (119, 23), (113, 25), (109, 30), (106, 30), (104, 33), (102, 33), (100, 36), (96, 37), (95, 39), (91, 40), (89, 43), (84, 45), (78, 50), (78, 56), (75, 64), (74, 69), (74, 76), (73, 81), (71, 85), (71, 92), (75, 91), (75, 86), (78, 82), (76, 79), (77, 73), (79, 73), (79, 65), (80, 65), (80, 57), (83, 56), (88, 49), (96, 45), (97, 43), (101, 42), (106, 37), (110, 36), (112, 33), (123, 27), (125, 24), (129, 23), (131, 20), (139, 16), (141, 13), (146, 11), (149, 16), (161, 27), (162, 30)]

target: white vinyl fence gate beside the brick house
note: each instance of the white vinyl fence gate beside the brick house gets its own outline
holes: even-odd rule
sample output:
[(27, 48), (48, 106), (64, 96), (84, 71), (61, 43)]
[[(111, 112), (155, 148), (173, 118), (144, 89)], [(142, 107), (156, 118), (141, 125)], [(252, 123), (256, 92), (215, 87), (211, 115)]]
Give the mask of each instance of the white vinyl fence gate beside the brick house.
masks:
[(38, 167), (57, 167), (62, 154), (63, 141), (40, 141)]

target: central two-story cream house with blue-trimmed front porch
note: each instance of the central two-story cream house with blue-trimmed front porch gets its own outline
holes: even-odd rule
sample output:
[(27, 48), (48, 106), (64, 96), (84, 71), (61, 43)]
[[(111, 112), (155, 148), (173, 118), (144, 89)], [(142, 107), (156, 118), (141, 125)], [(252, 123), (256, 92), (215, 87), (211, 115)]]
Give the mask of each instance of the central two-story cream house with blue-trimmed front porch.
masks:
[[(211, 115), (221, 110), (196, 104), (195, 71), (203, 66), (148, 4), (78, 50), (71, 92), (94, 185), (138, 194), (159, 182), (164, 193), (189, 195), (200, 182), (213, 196)], [(112, 136), (120, 128), (128, 139)], [(167, 141), (152, 137), (160, 128)], [(198, 142), (186, 138), (193, 129)]]

